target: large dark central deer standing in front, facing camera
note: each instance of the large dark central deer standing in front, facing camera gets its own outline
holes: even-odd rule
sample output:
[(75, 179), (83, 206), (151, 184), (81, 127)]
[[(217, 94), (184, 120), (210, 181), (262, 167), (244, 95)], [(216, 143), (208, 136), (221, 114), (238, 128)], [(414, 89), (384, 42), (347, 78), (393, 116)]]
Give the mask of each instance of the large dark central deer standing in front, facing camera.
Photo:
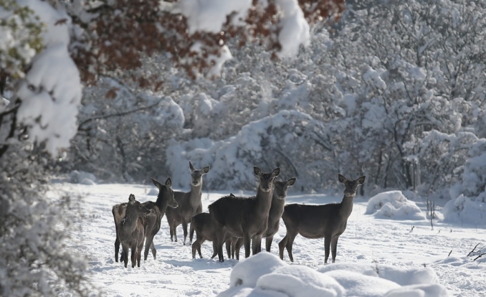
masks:
[(226, 237), (226, 231), (232, 236), (243, 238), (246, 258), (250, 256), (251, 240), (253, 240), (251, 252), (253, 254), (259, 252), (262, 235), (268, 224), (273, 180), (279, 176), (280, 167), (275, 168), (270, 173), (264, 173), (260, 168), (254, 166), (253, 173), (260, 178), (257, 196), (249, 198), (224, 196), (209, 205), (209, 214), (213, 216), (215, 229), (218, 230), (213, 239), (213, 242), (216, 240), (213, 246), (218, 247), (220, 262), (224, 262), (222, 244)]

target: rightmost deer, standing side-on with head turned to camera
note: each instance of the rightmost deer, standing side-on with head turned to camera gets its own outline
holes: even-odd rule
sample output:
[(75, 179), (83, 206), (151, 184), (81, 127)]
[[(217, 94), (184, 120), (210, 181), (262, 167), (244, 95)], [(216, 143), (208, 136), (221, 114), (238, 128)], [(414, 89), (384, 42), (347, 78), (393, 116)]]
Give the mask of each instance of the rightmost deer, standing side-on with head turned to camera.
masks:
[(337, 176), (339, 183), (345, 185), (344, 197), (341, 203), (329, 203), (325, 205), (285, 205), (282, 219), (287, 227), (287, 233), (278, 244), (279, 256), (282, 260), (284, 260), (284, 248), (286, 248), (290, 262), (294, 261), (292, 245), (295, 236), (300, 234), (306, 238), (324, 237), (324, 263), (328, 263), (329, 249), (332, 251), (332, 263), (335, 263), (337, 240), (346, 230), (357, 187), (358, 185), (362, 185), (366, 178), (366, 176), (361, 176), (353, 181), (348, 180), (341, 174)]

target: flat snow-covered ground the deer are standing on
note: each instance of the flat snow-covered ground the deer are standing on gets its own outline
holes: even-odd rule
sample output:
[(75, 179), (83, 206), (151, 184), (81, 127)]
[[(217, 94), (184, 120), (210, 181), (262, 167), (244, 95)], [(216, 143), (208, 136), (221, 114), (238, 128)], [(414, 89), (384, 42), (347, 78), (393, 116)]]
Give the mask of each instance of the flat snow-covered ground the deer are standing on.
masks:
[[(68, 192), (73, 197), (81, 199), (81, 218), (78, 221), (81, 232), (74, 234), (74, 240), (69, 248), (88, 258), (92, 279), (103, 290), (103, 296), (216, 296), (229, 289), (230, 291), (226, 291), (222, 296), (231, 296), (230, 274), (238, 261), (225, 260), (224, 263), (218, 263), (217, 260), (209, 259), (212, 254), (212, 245), (209, 242), (202, 246), (202, 255), (205, 258), (193, 259), (191, 247), (182, 245), (181, 227), (178, 227), (179, 241), (177, 243), (170, 241), (169, 226), (165, 217), (162, 218), (160, 232), (154, 238), (158, 250), (157, 260), (154, 260), (149, 254), (148, 260), (145, 262), (142, 260), (140, 268), (134, 269), (125, 268), (114, 261), (115, 227), (112, 206), (116, 203), (126, 202), (129, 194), (135, 194), (140, 202), (155, 201), (156, 196), (147, 195), (153, 188), (146, 185), (125, 184), (52, 184), (50, 195), (53, 197), (61, 192)], [(228, 193), (203, 193), (203, 211), (207, 211), (207, 206), (212, 201)], [(250, 195), (251, 193), (233, 191), (233, 194)], [(369, 281), (367, 279), (372, 274), (370, 274), (372, 268), (375, 267), (374, 270), (378, 271), (377, 275), (385, 278), (383, 282), (385, 280), (394, 281), (393, 284), (388, 284), (390, 288), (408, 285), (407, 282), (410, 279), (412, 279), (410, 280), (412, 284), (420, 283), (420, 280), (413, 280), (414, 277), (412, 277), (417, 272), (419, 276), (424, 273), (421, 276), (424, 283), (430, 283), (436, 274), (436, 283), (445, 286), (450, 296), (486, 295), (486, 255), (478, 260), (473, 260), (476, 256), (467, 257), (474, 246), (479, 244), (478, 248), (480, 248), (486, 245), (486, 226), (481, 228), (481, 226), (475, 225), (463, 224), (461, 226), (434, 221), (434, 229), (431, 229), (430, 221), (425, 218), (417, 219), (415, 215), (414, 220), (407, 220), (407, 217), (403, 216), (403, 211), (399, 212), (400, 216), (391, 219), (386, 216), (365, 214), (368, 200), (368, 198), (355, 198), (355, 207), (348, 219), (346, 232), (339, 238), (335, 264), (324, 265), (324, 238), (308, 239), (297, 236), (293, 245), (295, 263), (290, 264), (288, 255), (286, 252), (284, 253), (284, 262), (290, 264), (288, 267), (295, 265), (295, 269), (281, 268), (283, 269), (281, 274), (305, 276), (300, 278), (304, 284), (307, 284), (308, 281), (317, 281), (313, 272), (316, 275), (326, 274), (327, 278), (332, 277), (332, 281), (329, 280), (330, 286), (336, 286), (337, 283), (333, 282), (337, 280), (341, 287), (344, 287), (344, 296), (351, 294), (354, 294), (352, 296), (384, 296), (383, 292), (380, 293), (379, 290), (361, 291), (359, 294), (357, 293), (360, 292), (359, 286), (350, 287), (349, 285), (359, 285), (359, 282), (361, 285), (365, 282), (367, 287), (373, 285), (366, 281)], [(377, 199), (374, 200), (376, 202)], [(389, 200), (390, 196), (383, 198), (383, 202)], [(340, 196), (324, 194), (287, 197), (287, 203), (323, 204), (339, 201), (341, 201)], [(410, 203), (410, 201), (406, 203)], [(436, 205), (440, 204), (440, 201), (436, 202)], [(380, 204), (377, 203), (377, 205)], [(424, 210), (421, 203), (419, 203), (419, 207)], [(437, 207), (436, 212), (439, 218), (441, 217), (440, 211), (441, 207)], [(390, 209), (388, 212), (390, 213)], [(284, 237), (286, 231), (282, 221), (280, 226), (279, 232), (273, 239), (271, 251), (273, 255), (278, 254), (277, 243)], [(486, 252), (486, 249), (483, 251)], [(241, 254), (244, 256), (244, 249)], [(275, 262), (275, 257), (268, 254), (262, 258), (268, 261), (268, 265), (273, 265), (271, 263)], [(485, 262), (481, 262), (481, 260)], [(262, 263), (266, 265), (264, 260)], [(254, 267), (254, 265), (246, 266)], [(339, 269), (352, 270), (352, 272), (343, 273)], [(307, 270), (313, 272), (308, 274)], [(245, 270), (243, 265), (239, 265), (235, 272), (239, 274), (257, 273)], [(388, 272), (388, 276), (387, 273), (383, 276), (383, 272)], [(286, 276), (286, 278), (290, 278), (290, 276)], [(251, 291), (252, 288), (249, 288), (240, 290), (239, 294), (240, 296), (292, 296), (289, 291), (286, 291), (285, 285), (289, 284), (286, 283), (286, 278), (281, 275), (275, 278), (273, 274), (268, 274), (259, 282), (264, 289)], [(295, 281), (294, 278), (292, 279)], [(321, 283), (322, 281), (319, 280)], [(328, 280), (324, 283), (326, 282)], [(299, 284), (302, 285), (297, 282), (295, 286)], [(379, 287), (383, 284), (377, 282), (374, 285)], [(273, 294), (270, 294), (268, 290), (275, 286), (280, 293), (274, 291)], [(288, 285), (290, 289), (295, 286)], [(358, 291), (352, 291), (353, 289)], [(262, 294), (264, 291), (268, 294)], [(408, 291), (405, 294), (396, 293), (390, 294), (390, 296), (439, 296), (440, 291), (440, 288), (430, 287), (427, 294), (421, 295), (419, 291), (414, 291), (412, 294), (412, 291)], [(286, 292), (287, 295), (282, 292)], [(337, 292), (339, 293), (339, 289)], [(427, 289), (422, 292), (427, 292)], [(339, 294), (329, 296), (339, 296)]]

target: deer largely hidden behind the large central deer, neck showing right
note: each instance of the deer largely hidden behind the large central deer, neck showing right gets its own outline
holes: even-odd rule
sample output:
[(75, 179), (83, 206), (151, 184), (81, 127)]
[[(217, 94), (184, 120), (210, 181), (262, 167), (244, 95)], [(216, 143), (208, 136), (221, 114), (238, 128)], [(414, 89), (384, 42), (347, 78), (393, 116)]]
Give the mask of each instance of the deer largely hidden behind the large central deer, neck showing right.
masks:
[[(285, 198), (287, 196), (287, 189), (295, 184), (297, 178), (290, 178), (288, 181), (275, 181), (275, 188), (273, 190), (272, 203), (270, 206), (270, 211), (268, 212), (268, 223), (266, 231), (263, 234), (265, 238), (266, 252), (270, 252), (273, 236), (277, 234), (280, 227), (280, 218), (284, 213)], [(226, 241), (226, 250), (228, 249), (228, 244), (231, 243), (231, 258), (235, 257), (240, 260), (240, 248), (242, 245), (242, 240), (237, 240), (235, 243), (235, 238)], [(260, 250), (262, 248), (260, 247)]]

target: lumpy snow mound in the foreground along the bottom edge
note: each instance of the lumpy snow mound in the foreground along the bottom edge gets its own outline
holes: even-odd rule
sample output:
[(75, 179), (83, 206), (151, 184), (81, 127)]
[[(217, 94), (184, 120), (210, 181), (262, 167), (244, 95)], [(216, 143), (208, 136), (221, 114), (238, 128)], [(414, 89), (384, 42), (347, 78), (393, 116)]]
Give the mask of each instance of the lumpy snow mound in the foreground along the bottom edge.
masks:
[(429, 267), (344, 263), (315, 270), (261, 252), (235, 265), (229, 289), (218, 297), (447, 297), (436, 279)]

